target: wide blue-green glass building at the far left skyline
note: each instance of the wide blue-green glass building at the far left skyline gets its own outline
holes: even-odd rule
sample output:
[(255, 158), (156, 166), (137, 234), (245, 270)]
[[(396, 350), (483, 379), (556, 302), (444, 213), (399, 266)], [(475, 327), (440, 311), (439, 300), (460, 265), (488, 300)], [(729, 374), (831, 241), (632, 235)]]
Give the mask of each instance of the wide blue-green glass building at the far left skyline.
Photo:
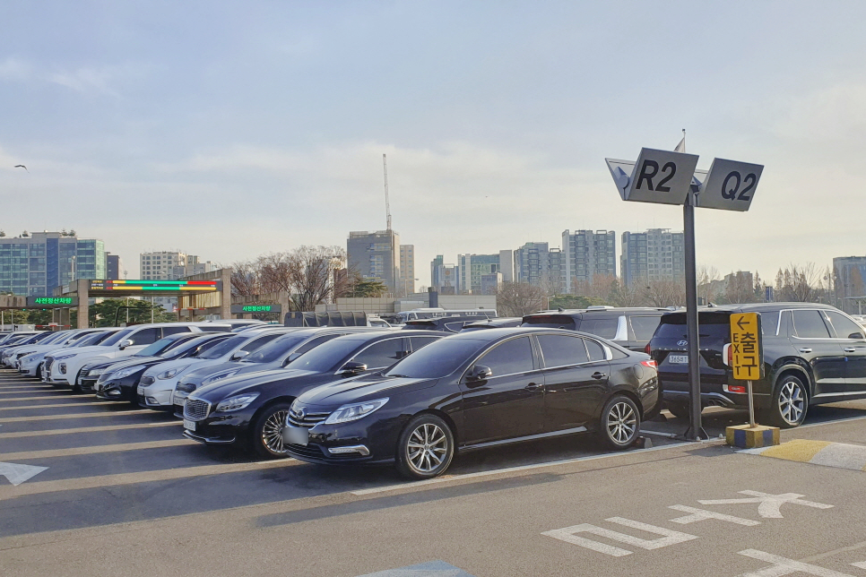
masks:
[(105, 278), (105, 245), (98, 238), (47, 231), (0, 238), (0, 292), (45, 297), (74, 279)]

